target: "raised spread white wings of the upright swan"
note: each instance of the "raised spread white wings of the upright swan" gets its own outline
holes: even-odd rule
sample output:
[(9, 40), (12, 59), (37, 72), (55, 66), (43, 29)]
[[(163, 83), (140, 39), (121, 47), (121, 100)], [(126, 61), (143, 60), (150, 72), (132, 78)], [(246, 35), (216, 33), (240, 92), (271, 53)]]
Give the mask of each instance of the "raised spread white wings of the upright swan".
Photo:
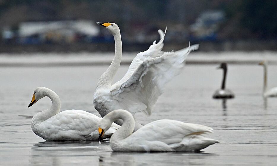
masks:
[(132, 114), (138, 111), (151, 114), (165, 83), (180, 73), (187, 55), (199, 46), (189, 45), (176, 52), (163, 52), (165, 34), (162, 30), (158, 32), (161, 40), (157, 44), (154, 41), (147, 51), (138, 53), (125, 76), (110, 90), (112, 98)]

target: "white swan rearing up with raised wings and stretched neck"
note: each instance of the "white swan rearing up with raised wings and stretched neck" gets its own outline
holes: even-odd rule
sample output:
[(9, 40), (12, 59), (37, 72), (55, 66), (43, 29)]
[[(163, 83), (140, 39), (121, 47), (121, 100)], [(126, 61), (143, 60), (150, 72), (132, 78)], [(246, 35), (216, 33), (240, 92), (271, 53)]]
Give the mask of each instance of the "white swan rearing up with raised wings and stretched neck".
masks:
[[(115, 55), (109, 68), (98, 80), (93, 96), (95, 109), (102, 117), (117, 109), (128, 110), (133, 115), (138, 111), (150, 115), (165, 83), (179, 74), (187, 55), (197, 50), (199, 45), (192, 45), (176, 52), (163, 52), (165, 34), (159, 30), (160, 42), (155, 44), (154, 41), (147, 51), (138, 53), (125, 76), (112, 85), (122, 57), (120, 29), (115, 23), (97, 23), (113, 34)], [(121, 125), (122, 121), (117, 120), (115, 123)], [(142, 126), (136, 120), (135, 124), (134, 131)]]

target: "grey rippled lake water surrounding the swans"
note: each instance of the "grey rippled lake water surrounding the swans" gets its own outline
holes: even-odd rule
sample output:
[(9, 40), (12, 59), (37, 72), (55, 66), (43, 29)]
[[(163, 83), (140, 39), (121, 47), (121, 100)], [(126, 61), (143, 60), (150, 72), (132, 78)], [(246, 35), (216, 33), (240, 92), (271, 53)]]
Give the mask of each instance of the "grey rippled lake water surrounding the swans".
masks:
[[(263, 71), (255, 65), (230, 65), (227, 88), (235, 99), (211, 98), (220, 87), (216, 65), (187, 65), (167, 84), (152, 116), (143, 124), (175, 119), (214, 128), (220, 141), (200, 153), (118, 153), (108, 142), (46, 142), (30, 126), (32, 116), (51, 105), (48, 98), (28, 108), (33, 91), (45, 86), (61, 98), (62, 108), (97, 113), (95, 84), (107, 66), (0, 67), (0, 165), (276, 165), (277, 98), (261, 96)], [(128, 66), (121, 66), (121, 78)], [(277, 66), (269, 67), (269, 87), (277, 86)]]

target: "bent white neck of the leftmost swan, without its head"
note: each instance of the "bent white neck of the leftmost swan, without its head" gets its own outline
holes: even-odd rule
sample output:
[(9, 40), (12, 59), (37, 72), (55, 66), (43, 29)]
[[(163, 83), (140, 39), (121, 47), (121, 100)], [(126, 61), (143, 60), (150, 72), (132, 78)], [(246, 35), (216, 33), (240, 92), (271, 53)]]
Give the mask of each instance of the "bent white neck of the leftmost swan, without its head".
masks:
[(33, 124), (43, 122), (60, 112), (61, 100), (58, 95), (48, 88), (43, 89), (43, 91), (43, 94), (51, 99), (52, 105), (49, 109), (37, 113), (32, 118), (31, 126), (33, 126)]

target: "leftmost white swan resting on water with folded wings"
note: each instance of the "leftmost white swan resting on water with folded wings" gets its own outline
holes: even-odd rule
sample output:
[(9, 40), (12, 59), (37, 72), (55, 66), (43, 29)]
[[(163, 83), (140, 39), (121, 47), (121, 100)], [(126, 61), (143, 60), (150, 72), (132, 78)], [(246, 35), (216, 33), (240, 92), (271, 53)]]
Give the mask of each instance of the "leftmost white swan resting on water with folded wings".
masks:
[[(83, 110), (65, 110), (60, 112), (61, 101), (51, 89), (38, 87), (34, 90), (32, 101), (28, 107), (34, 105), (39, 99), (49, 97), (52, 106), (37, 113), (31, 121), (33, 132), (44, 140), (98, 140), (98, 116)], [(111, 135), (119, 128), (113, 123), (103, 138)]]

